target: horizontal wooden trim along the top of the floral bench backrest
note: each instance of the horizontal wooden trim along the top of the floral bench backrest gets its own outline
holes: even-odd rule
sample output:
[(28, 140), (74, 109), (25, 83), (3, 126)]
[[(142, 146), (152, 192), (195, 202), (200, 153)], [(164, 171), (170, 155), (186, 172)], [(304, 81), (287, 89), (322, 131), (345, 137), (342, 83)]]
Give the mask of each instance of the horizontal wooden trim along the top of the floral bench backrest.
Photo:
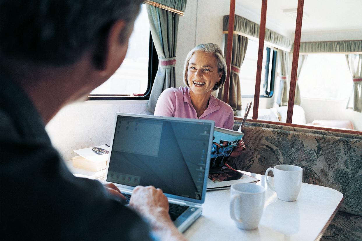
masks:
[[(235, 120), (242, 121), (243, 118), (241, 117), (234, 117)], [(266, 121), (266, 120), (253, 120), (253, 119), (247, 119), (249, 122), (257, 122), (257, 123), (265, 123), (265, 124), (272, 124), (272, 125), (283, 125), (283, 126), (291, 126), (296, 128), (306, 128), (306, 129), (313, 129), (313, 130), (325, 130), (328, 132), (341, 132), (341, 133), (348, 133), (348, 134), (354, 134), (354, 135), (362, 135), (362, 131), (359, 130), (350, 130), (350, 129), (342, 129), (337, 127), (322, 127), (317, 125), (310, 125), (310, 124), (291, 124), (286, 122), (277, 122), (277, 121)]]

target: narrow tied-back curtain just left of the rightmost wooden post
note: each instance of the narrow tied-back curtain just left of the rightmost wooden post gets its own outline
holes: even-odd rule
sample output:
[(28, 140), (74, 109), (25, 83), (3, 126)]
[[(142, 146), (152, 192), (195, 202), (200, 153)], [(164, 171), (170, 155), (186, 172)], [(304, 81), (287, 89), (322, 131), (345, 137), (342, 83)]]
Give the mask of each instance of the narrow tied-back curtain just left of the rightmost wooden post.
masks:
[(289, 52), (278, 50), (279, 62), (281, 64), (281, 76), (279, 81), (279, 93), (277, 96), (277, 104), (279, 106), (288, 105), (288, 68), (289, 68)]

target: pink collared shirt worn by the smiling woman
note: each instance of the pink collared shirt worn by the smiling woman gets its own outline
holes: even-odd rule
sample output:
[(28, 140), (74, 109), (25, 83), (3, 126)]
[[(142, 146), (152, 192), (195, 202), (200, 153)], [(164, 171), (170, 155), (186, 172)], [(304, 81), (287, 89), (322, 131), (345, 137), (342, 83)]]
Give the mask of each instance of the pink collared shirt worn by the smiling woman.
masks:
[(210, 95), (209, 106), (200, 118), (197, 118), (196, 110), (191, 104), (189, 91), (188, 87), (182, 86), (164, 90), (157, 100), (154, 115), (213, 120), (215, 121), (215, 126), (233, 129), (234, 111), (231, 106)]

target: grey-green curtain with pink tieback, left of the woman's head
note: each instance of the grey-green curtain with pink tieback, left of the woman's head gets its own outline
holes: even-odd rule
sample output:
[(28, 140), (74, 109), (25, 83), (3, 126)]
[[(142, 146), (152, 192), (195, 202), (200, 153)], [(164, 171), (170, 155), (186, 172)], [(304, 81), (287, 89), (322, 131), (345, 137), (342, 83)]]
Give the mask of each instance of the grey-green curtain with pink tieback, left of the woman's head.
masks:
[[(153, 0), (181, 11), (185, 10), (186, 0)], [(146, 4), (150, 30), (159, 57), (159, 68), (153, 82), (147, 111), (154, 112), (157, 99), (162, 91), (175, 87), (175, 64), (177, 30), (180, 15)]]

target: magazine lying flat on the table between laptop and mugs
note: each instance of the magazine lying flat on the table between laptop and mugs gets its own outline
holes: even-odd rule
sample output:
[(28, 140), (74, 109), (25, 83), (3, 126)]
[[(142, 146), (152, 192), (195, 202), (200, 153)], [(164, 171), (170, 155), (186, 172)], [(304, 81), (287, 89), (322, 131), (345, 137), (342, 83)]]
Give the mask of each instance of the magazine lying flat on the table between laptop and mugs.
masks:
[(228, 164), (217, 170), (213, 169), (209, 172), (209, 180), (207, 180), (207, 190), (230, 188), (235, 183), (257, 182), (259, 179), (246, 175), (245, 173), (231, 168)]

